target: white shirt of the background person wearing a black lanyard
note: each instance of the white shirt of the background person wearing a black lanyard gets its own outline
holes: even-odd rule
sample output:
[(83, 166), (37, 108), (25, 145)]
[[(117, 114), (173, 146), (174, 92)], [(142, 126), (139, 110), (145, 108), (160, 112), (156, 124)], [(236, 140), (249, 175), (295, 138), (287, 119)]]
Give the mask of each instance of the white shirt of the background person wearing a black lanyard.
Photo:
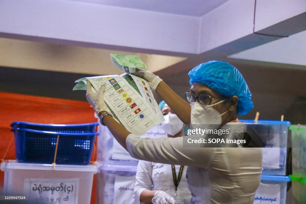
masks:
[[(180, 165), (175, 165), (175, 172), (178, 176)], [(177, 187), (177, 197), (175, 197), (175, 185), (170, 164), (155, 163), (140, 160), (138, 162), (134, 194), (137, 203), (140, 203), (140, 194), (144, 190), (161, 190), (171, 195), (177, 204), (189, 203), (191, 198), (187, 188), (186, 169), (184, 166), (181, 181)]]

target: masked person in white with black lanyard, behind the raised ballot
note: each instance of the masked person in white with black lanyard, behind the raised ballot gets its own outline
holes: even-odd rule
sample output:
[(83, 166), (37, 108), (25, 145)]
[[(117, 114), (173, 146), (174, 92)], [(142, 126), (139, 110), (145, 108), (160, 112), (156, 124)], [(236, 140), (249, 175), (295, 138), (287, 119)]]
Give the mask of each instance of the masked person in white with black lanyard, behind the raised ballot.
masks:
[[(184, 136), (185, 124), (177, 117), (164, 102), (159, 108), (165, 121), (161, 126), (167, 137)], [(189, 203), (190, 192), (186, 181), (187, 167), (140, 160), (138, 162), (134, 194), (138, 203)]]

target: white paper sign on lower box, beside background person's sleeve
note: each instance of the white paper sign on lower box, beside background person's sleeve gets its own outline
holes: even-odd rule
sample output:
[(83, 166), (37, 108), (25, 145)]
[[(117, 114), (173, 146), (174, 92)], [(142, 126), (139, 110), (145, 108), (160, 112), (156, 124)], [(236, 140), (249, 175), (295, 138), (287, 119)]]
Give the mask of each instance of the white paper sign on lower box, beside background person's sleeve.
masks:
[(114, 203), (136, 204), (135, 176), (117, 176), (114, 184)]

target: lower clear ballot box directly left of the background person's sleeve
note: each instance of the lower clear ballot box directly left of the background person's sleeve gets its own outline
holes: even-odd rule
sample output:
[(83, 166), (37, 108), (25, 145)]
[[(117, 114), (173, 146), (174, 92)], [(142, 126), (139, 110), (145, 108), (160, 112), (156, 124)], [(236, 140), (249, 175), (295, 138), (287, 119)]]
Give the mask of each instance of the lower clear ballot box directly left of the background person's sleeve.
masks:
[(102, 165), (99, 170), (97, 204), (136, 204), (133, 191), (137, 166)]

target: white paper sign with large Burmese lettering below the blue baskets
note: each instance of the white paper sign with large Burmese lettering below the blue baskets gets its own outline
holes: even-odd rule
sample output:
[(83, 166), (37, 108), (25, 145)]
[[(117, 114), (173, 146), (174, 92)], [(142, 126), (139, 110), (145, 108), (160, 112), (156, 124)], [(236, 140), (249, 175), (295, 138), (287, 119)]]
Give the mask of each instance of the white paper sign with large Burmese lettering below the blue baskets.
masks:
[(25, 179), (24, 194), (35, 204), (78, 203), (79, 179)]

